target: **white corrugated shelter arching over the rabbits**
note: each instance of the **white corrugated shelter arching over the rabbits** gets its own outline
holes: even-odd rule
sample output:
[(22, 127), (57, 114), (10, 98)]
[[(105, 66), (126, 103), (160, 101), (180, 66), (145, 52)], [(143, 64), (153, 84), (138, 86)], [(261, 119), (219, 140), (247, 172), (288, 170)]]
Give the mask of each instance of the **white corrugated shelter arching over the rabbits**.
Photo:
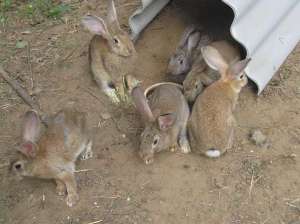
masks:
[[(300, 39), (300, 1), (222, 1), (234, 12), (231, 34), (252, 58), (246, 74), (260, 93)], [(134, 39), (168, 2), (142, 0), (142, 7), (129, 19)]]

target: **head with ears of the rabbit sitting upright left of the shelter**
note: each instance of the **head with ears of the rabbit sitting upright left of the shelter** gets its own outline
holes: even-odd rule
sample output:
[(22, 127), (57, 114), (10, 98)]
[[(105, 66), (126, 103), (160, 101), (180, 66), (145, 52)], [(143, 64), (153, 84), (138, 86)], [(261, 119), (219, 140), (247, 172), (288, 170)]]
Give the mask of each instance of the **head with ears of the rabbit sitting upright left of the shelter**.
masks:
[(135, 53), (134, 44), (130, 36), (120, 27), (113, 0), (109, 1), (105, 20), (97, 16), (87, 15), (82, 18), (82, 24), (91, 33), (106, 39), (110, 49), (115, 54), (129, 57)]

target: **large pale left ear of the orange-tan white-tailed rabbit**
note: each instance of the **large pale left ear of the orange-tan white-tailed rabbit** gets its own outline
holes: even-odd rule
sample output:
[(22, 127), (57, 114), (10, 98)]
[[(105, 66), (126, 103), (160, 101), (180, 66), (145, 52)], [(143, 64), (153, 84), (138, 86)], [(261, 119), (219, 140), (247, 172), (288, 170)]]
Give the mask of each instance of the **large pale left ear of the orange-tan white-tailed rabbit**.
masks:
[(228, 69), (228, 63), (216, 48), (205, 46), (201, 48), (201, 53), (210, 68), (218, 71), (221, 75), (225, 74)]

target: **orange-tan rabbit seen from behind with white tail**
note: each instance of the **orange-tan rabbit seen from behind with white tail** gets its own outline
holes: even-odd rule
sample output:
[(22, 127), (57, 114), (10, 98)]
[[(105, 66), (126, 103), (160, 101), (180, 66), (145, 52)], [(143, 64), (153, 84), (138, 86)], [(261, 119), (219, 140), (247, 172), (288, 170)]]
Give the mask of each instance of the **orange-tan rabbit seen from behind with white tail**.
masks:
[(210, 45), (203, 47), (201, 52), (207, 65), (217, 70), (221, 78), (197, 97), (188, 122), (188, 134), (193, 151), (216, 158), (233, 145), (233, 112), (239, 93), (247, 84), (244, 69), (251, 59), (229, 64)]

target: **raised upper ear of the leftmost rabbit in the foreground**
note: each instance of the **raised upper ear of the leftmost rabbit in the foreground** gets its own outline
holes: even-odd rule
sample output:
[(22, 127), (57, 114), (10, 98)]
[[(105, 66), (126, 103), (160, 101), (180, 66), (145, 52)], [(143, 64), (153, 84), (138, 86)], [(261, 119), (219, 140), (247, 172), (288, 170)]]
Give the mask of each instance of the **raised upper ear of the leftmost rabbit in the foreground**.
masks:
[(41, 121), (35, 111), (27, 111), (23, 118), (23, 140), (25, 142), (37, 141), (41, 129)]

